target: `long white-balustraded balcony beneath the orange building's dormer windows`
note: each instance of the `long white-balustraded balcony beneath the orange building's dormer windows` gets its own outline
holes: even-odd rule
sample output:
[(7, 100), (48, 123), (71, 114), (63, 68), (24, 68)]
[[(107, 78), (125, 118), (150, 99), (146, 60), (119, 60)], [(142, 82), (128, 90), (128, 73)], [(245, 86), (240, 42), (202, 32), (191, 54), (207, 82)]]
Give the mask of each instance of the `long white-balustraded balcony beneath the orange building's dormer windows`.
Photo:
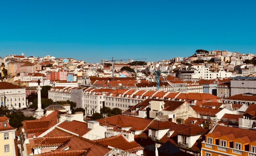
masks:
[[(249, 152), (249, 151), (244, 151), (244, 150), (239, 150), (239, 149), (233, 149), (230, 147), (223, 147), (220, 145), (216, 145), (216, 144), (208, 144), (205, 142), (202, 142), (202, 149), (209, 149), (209, 150), (213, 150), (216, 152), (221, 152), (223, 154), (228, 154), (228, 155), (241, 155), (241, 156), (256, 156), (256, 153), (253, 152)], [(223, 155), (222, 154), (222, 155)]]

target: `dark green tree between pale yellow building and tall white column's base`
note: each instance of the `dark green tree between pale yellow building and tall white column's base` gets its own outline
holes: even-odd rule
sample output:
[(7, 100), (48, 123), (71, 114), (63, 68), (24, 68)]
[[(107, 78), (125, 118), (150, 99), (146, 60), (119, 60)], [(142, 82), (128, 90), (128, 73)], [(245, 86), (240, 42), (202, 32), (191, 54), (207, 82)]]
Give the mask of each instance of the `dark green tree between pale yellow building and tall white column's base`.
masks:
[(20, 128), (22, 126), (22, 121), (36, 119), (32, 116), (25, 116), (24, 113), (21, 111), (13, 112), (12, 114), (7, 114), (6, 117), (10, 118), (9, 124), (13, 128)]

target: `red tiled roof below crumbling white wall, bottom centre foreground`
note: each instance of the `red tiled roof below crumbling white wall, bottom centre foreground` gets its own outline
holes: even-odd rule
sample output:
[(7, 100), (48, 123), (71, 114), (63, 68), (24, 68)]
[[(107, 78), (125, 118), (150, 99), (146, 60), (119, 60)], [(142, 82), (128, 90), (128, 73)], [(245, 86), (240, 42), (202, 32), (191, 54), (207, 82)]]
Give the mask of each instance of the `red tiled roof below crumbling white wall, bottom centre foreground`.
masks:
[(104, 146), (111, 146), (117, 149), (122, 149), (131, 153), (144, 149), (138, 143), (136, 143), (136, 141), (128, 142), (127, 139), (123, 136), (123, 134), (115, 135), (104, 139), (94, 140), (94, 142), (102, 144)]

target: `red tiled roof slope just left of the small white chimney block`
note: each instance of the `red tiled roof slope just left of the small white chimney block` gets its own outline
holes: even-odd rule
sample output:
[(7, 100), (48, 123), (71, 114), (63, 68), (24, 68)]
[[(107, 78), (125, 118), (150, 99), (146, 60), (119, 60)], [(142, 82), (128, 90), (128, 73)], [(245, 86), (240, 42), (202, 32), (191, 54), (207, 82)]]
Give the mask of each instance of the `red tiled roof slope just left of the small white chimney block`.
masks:
[(58, 127), (78, 134), (79, 136), (83, 136), (84, 134), (90, 131), (90, 129), (87, 129), (87, 126), (88, 125), (86, 122), (81, 122), (77, 120), (73, 120), (71, 122), (64, 121), (63, 123), (58, 125)]

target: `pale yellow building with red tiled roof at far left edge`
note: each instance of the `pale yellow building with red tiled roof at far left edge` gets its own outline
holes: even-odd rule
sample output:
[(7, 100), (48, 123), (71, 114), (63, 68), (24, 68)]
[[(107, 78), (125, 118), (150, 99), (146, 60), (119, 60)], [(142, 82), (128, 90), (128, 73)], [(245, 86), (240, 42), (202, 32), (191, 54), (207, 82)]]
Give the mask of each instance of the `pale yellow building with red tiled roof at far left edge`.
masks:
[[(16, 128), (9, 125), (9, 118), (0, 117), (0, 155), (1, 156), (16, 156), (14, 145)], [(18, 151), (17, 151), (18, 152)]]

